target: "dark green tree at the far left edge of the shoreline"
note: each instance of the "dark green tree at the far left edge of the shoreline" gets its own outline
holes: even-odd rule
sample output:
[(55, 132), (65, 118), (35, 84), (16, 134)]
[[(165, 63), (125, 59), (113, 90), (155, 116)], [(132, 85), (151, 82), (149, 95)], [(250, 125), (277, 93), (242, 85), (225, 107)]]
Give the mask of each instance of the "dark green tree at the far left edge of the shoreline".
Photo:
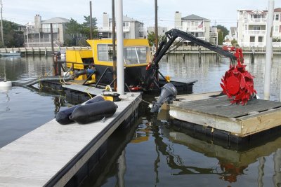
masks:
[(23, 46), (23, 33), (18, 30), (18, 26), (14, 22), (3, 20), (3, 33), (4, 43), (1, 43), (0, 41), (1, 47), (18, 48)]

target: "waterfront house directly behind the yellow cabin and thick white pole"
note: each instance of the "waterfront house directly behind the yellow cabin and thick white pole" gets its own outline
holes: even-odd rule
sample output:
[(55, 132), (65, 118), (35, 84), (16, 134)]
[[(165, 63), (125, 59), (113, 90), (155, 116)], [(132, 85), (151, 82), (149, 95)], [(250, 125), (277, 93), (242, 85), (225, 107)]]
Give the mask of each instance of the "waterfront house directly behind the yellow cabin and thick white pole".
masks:
[[(115, 20), (116, 22), (116, 20)], [(123, 16), (124, 39), (143, 39), (146, 32), (143, 22)], [(116, 25), (115, 25), (116, 30)], [(98, 27), (98, 35), (101, 38), (112, 38), (112, 18), (107, 13), (103, 13), (103, 27)]]

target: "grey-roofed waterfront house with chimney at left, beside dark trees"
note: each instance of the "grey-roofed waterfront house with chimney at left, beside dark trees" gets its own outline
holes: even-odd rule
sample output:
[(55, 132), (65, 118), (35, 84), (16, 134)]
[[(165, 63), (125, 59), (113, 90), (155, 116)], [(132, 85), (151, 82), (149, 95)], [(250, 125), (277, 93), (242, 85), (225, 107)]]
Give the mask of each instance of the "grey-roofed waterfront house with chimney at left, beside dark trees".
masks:
[(40, 15), (35, 15), (34, 22), (25, 25), (25, 47), (51, 47), (51, 23), (53, 24), (54, 46), (63, 46), (67, 22), (70, 20), (66, 18), (55, 17), (41, 20)]

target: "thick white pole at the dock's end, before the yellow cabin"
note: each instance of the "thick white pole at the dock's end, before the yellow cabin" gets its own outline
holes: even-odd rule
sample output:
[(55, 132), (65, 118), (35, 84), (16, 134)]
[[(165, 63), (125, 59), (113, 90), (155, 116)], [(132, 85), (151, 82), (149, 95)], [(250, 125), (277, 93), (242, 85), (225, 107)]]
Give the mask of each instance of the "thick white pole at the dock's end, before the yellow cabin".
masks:
[(124, 95), (123, 0), (117, 0), (117, 92)]

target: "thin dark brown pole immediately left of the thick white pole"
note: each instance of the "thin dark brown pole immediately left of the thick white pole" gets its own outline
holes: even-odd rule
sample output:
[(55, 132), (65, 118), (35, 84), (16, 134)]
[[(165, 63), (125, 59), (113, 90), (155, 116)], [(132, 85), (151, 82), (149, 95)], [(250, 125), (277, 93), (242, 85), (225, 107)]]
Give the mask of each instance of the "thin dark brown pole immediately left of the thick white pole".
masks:
[[(113, 80), (116, 79), (116, 49), (115, 49), (115, 0), (112, 0), (112, 60), (113, 60)], [(114, 81), (113, 83), (114, 90), (117, 90), (117, 83)]]

